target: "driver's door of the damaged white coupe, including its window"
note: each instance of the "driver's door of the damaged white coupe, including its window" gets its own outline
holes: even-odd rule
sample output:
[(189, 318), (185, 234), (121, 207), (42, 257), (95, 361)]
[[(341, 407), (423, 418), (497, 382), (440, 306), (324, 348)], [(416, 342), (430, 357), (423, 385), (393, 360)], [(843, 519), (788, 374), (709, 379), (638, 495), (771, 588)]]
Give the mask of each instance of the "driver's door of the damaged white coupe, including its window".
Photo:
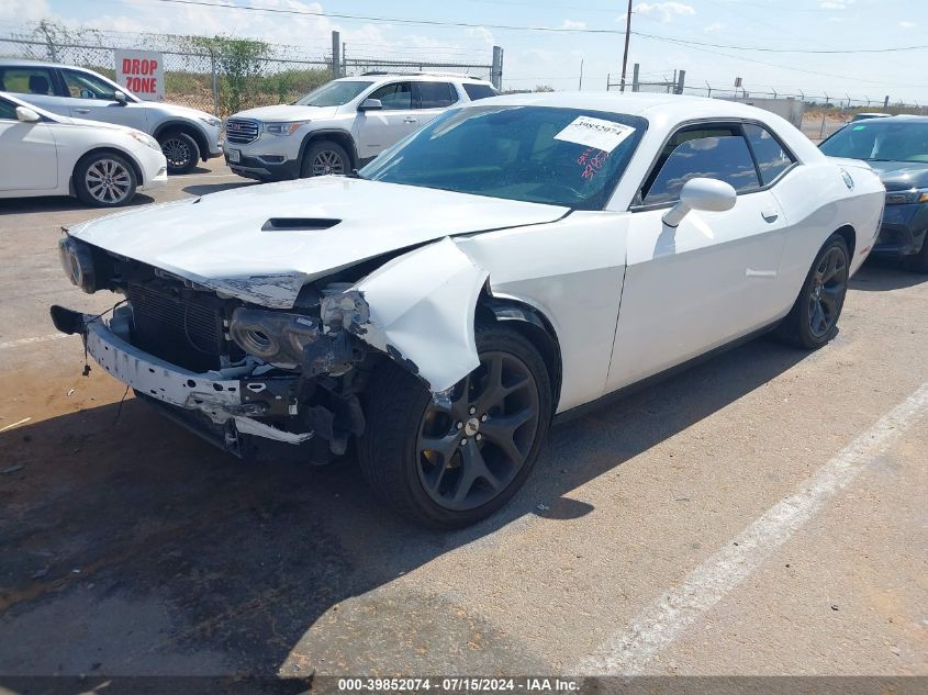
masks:
[[(725, 212), (661, 217), (696, 177), (738, 193)], [(631, 206), (622, 310), (607, 390), (686, 361), (769, 324), (781, 311), (778, 272), (787, 221), (740, 123), (678, 130)]]

